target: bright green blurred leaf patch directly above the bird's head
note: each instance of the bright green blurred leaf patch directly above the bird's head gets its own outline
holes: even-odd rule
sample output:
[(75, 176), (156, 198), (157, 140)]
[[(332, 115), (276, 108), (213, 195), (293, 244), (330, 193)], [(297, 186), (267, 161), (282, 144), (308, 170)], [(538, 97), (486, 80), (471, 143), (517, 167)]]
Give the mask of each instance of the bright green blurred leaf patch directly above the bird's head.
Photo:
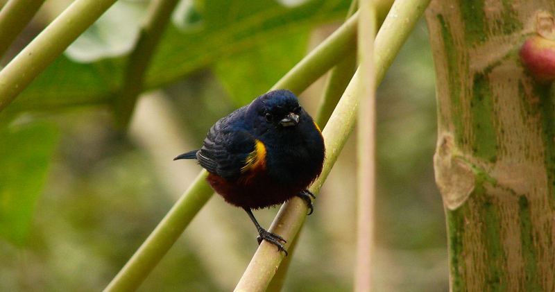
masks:
[(253, 101), (302, 59), (307, 37), (308, 30), (297, 31), (218, 62), (214, 71), (235, 105)]

